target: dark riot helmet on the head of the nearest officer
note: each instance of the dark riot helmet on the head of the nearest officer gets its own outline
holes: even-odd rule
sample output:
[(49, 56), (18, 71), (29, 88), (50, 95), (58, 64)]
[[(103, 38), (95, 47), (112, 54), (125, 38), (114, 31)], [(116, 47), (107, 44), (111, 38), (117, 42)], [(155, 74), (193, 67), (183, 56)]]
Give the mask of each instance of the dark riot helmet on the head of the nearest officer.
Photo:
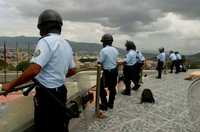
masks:
[(44, 35), (52, 31), (60, 33), (62, 25), (60, 14), (52, 9), (47, 9), (40, 14), (37, 27), (40, 30), (40, 34)]

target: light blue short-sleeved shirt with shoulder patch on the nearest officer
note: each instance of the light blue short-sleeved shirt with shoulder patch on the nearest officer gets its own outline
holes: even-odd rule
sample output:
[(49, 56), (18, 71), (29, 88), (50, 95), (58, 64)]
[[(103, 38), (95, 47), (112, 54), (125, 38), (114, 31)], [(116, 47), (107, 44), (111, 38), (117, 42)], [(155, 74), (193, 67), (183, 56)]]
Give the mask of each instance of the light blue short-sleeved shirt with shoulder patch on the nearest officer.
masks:
[(68, 69), (75, 67), (69, 43), (52, 33), (38, 41), (30, 62), (42, 67), (35, 78), (47, 88), (63, 85)]

